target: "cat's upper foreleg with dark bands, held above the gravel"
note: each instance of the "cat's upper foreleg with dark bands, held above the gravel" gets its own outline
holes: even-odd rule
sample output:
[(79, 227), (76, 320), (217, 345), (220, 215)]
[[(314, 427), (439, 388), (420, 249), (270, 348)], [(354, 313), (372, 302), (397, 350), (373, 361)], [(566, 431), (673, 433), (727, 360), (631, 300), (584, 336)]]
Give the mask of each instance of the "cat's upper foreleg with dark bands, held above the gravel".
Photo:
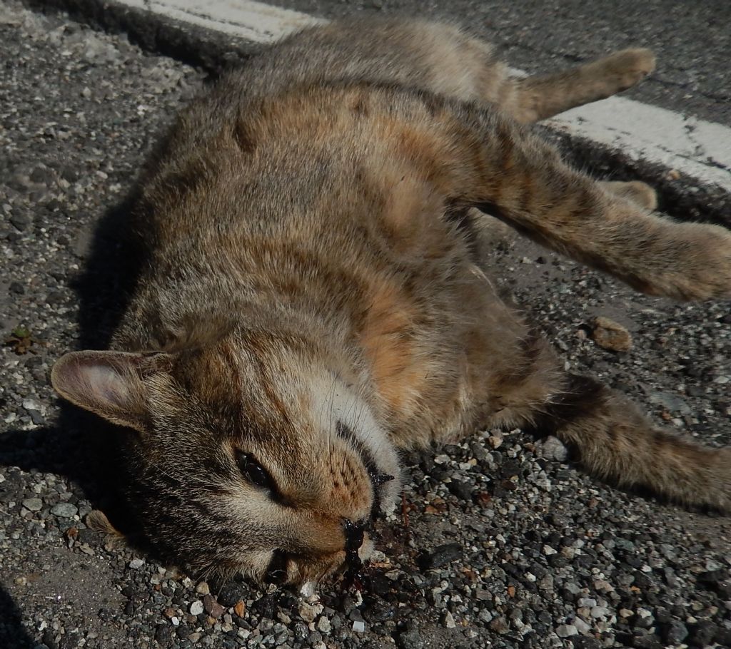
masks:
[(450, 155), (439, 173), (450, 201), (479, 207), (644, 293), (731, 297), (728, 229), (652, 214), (637, 204), (637, 192), (618, 196), (616, 186), (572, 169), (552, 146), (496, 112), (450, 104), (438, 115), (448, 135)]

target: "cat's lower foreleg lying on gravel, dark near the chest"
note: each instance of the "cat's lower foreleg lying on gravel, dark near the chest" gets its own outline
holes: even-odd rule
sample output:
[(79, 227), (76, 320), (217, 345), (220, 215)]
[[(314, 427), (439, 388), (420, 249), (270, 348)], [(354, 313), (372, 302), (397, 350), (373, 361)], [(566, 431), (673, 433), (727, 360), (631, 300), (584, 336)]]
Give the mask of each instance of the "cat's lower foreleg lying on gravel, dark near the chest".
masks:
[(731, 511), (731, 448), (703, 447), (656, 428), (624, 395), (594, 379), (569, 375), (535, 423), (607, 482)]

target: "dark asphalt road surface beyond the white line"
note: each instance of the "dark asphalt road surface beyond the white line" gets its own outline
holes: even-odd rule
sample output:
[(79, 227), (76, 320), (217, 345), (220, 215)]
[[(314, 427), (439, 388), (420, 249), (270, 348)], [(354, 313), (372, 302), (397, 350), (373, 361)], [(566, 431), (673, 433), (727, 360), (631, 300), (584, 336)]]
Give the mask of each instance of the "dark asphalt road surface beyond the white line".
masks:
[(731, 2), (727, 0), (281, 0), (324, 18), (402, 13), (448, 18), (501, 47), (531, 72), (623, 47), (650, 47), (652, 78), (628, 96), (731, 125)]

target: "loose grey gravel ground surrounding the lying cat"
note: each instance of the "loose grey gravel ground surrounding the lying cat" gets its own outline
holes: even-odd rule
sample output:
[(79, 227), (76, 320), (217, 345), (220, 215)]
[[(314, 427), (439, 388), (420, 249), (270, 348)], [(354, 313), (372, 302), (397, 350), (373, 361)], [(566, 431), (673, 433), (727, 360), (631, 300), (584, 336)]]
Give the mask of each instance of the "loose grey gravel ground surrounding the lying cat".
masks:
[[(103, 345), (124, 285), (113, 224), (202, 74), (13, 2), (0, 60), (0, 647), (731, 646), (730, 519), (608, 488), (520, 431), (406, 456), (360, 593), (197, 583), (88, 529), (110, 505), (96, 422), (58, 402), (49, 368)], [(728, 304), (637, 296), (524, 242), (494, 264), (573, 369), (731, 442)], [(596, 316), (632, 349), (598, 347)]]

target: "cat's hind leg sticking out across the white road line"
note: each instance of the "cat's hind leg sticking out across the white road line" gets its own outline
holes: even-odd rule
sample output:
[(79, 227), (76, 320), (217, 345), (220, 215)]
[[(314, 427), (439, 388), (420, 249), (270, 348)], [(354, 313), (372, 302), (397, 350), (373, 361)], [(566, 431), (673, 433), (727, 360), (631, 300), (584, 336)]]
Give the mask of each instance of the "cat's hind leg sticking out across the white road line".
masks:
[(631, 88), (655, 69), (651, 50), (621, 50), (554, 74), (511, 80), (501, 107), (520, 123), (531, 123)]

